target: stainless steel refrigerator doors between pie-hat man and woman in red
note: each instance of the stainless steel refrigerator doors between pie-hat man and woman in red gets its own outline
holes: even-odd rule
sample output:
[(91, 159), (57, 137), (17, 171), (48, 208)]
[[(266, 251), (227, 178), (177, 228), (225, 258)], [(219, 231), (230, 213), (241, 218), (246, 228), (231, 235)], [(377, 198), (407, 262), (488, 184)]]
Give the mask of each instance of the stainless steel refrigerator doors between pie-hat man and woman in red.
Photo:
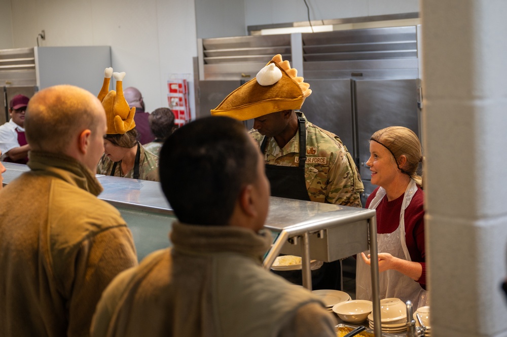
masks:
[(372, 185), (369, 139), (388, 126), (405, 126), (419, 135), (417, 79), (307, 80), (313, 92), (302, 107), (309, 121), (337, 134), (352, 154), (365, 184), (363, 206)]

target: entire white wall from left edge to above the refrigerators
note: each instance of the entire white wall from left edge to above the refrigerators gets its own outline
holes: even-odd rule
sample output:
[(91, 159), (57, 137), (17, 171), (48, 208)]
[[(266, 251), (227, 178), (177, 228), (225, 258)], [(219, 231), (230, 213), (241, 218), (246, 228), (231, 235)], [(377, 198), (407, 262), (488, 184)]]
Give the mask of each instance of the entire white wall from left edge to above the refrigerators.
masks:
[[(312, 20), (417, 12), (419, 6), (419, 0), (307, 3)], [(124, 87), (137, 87), (153, 111), (167, 106), (170, 74), (193, 80), (197, 38), (244, 35), (248, 25), (305, 21), (306, 15), (303, 0), (0, 0), (0, 49), (37, 46), (43, 29), (41, 46), (111, 46), (113, 68), (127, 73)], [(192, 83), (189, 89), (195, 111)]]

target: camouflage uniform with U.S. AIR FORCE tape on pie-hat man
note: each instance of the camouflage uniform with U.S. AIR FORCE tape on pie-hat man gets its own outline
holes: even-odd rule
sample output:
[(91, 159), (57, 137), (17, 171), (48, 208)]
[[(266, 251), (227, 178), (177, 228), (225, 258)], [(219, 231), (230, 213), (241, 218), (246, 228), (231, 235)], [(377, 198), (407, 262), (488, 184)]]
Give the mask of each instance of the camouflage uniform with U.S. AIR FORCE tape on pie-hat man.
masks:
[[(365, 190), (355, 163), (340, 138), (306, 120), (306, 188), (311, 201), (361, 207), (360, 193)], [(250, 130), (259, 143), (264, 138)], [(299, 132), (280, 148), (271, 137), (266, 144), (266, 164), (298, 166)]]

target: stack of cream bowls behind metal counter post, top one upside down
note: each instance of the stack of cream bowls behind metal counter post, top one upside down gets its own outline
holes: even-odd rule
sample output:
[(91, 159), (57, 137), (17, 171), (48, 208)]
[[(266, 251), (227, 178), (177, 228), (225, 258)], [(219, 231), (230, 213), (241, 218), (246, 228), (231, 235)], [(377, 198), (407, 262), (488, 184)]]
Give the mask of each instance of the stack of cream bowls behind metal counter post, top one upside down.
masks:
[[(368, 315), (370, 327), (374, 328), (373, 312)], [(399, 333), (407, 330), (407, 307), (400, 298), (380, 300), (380, 323), (382, 331)]]

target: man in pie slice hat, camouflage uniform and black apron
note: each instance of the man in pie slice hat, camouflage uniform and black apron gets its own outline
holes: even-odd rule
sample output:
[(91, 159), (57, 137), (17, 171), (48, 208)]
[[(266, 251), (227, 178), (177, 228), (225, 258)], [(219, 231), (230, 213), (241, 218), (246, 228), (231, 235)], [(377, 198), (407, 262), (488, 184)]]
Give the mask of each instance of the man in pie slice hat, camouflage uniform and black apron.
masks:
[[(361, 207), (363, 182), (340, 137), (310, 123), (299, 111), (312, 91), (297, 72), (275, 55), (211, 115), (253, 119), (250, 134), (264, 154), (272, 196)], [(339, 266), (324, 268), (335, 274)], [(339, 272), (324, 279), (321, 287), (335, 289)], [(320, 287), (313, 283), (314, 289)]]

